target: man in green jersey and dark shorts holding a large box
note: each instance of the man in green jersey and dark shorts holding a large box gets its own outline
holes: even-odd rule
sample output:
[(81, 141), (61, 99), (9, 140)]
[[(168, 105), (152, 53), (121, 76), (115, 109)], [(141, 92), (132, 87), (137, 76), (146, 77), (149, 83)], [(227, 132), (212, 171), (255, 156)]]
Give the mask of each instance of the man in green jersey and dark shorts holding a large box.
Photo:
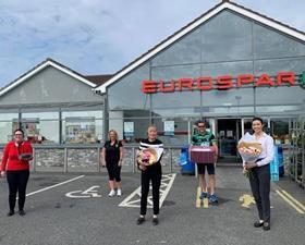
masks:
[[(206, 130), (207, 123), (205, 121), (198, 121), (196, 123), (196, 126), (198, 128), (198, 132), (195, 133), (192, 137), (192, 145), (193, 146), (215, 146), (217, 148), (217, 142), (215, 138), (215, 135)], [(218, 157), (218, 150), (216, 150), (215, 156), (215, 163), (217, 161)], [(218, 197), (215, 194), (215, 186), (216, 186), (216, 177), (215, 177), (215, 163), (197, 163), (197, 170), (198, 170), (198, 180), (199, 180), (199, 186), (202, 187), (202, 195), (200, 199), (209, 198), (210, 203), (218, 203)], [(205, 172), (206, 169), (209, 174), (209, 193), (206, 185), (206, 179), (205, 179)]]

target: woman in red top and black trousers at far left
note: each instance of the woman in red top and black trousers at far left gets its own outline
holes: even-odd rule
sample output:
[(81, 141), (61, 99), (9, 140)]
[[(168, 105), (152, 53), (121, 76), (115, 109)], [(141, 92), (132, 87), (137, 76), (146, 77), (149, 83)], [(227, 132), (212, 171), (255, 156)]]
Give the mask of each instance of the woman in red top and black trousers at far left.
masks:
[(8, 216), (15, 213), (16, 194), (19, 193), (19, 213), (24, 216), (24, 203), (26, 185), (29, 176), (29, 162), (33, 159), (33, 148), (29, 142), (24, 142), (22, 130), (14, 132), (14, 140), (8, 143), (3, 149), (1, 176), (5, 175), (9, 183), (9, 204)]

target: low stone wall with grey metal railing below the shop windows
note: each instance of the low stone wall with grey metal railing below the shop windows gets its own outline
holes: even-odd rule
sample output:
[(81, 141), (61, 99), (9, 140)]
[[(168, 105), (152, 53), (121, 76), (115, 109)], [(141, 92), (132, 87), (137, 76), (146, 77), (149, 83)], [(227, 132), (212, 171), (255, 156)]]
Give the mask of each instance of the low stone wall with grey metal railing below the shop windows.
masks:
[[(32, 172), (106, 172), (101, 168), (101, 145), (33, 145)], [(136, 151), (138, 145), (123, 147), (122, 172), (138, 172)], [(182, 146), (164, 146), (162, 172), (179, 172)], [(2, 158), (3, 146), (0, 146)]]

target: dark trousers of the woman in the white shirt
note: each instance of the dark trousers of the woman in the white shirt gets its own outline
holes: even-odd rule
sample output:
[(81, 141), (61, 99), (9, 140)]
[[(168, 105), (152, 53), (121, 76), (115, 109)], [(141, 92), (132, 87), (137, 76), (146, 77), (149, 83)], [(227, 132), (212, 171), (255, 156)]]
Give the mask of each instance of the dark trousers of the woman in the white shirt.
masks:
[(270, 167), (269, 164), (252, 169), (251, 189), (256, 201), (260, 220), (270, 222)]

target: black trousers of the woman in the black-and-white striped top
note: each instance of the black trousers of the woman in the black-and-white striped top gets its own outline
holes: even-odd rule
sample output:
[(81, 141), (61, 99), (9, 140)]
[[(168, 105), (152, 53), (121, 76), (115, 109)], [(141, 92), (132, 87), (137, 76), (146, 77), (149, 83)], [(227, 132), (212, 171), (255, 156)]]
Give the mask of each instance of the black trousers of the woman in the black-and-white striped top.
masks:
[(141, 174), (141, 215), (146, 215), (147, 196), (149, 193), (149, 184), (152, 185), (152, 207), (154, 215), (159, 215), (159, 196), (161, 185), (162, 170), (160, 163), (155, 163), (148, 167)]

